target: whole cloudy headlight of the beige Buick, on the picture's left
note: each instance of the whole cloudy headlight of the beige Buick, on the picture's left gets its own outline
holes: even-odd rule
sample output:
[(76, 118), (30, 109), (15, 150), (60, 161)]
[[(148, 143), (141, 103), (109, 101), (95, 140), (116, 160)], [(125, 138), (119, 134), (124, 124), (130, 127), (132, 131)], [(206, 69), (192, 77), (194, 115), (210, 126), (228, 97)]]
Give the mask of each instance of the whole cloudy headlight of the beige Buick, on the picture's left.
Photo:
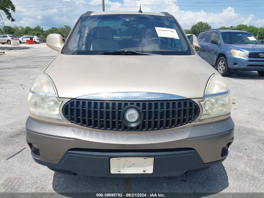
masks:
[(43, 73), (38, 74), (28, 96), (29, 113), (37, 118), (62, 121), (61, 103), (49, 77)]

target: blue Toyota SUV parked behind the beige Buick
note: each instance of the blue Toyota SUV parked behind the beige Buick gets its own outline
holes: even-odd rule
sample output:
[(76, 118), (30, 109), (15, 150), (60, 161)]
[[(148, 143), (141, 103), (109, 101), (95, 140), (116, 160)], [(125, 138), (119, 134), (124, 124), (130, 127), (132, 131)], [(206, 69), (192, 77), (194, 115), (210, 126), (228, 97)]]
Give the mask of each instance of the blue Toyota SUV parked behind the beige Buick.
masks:
[(264, 76), (264, 46), (249, 32), (232, 29), (205, 30), (198, 36), (199, 56), (222, 76), (231, 71), (257, 71)]

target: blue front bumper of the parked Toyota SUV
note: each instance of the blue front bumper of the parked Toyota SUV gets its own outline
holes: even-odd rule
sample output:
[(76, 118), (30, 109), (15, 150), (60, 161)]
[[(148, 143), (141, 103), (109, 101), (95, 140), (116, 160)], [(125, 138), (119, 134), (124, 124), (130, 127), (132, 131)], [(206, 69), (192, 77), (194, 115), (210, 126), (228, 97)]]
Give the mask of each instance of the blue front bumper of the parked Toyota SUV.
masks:
[(246, 53), (246, 57), (228, 55), (228, 67), (240, 71), (264, 71), (264, 58), (248, 58), (248, 55), (249, 53)]

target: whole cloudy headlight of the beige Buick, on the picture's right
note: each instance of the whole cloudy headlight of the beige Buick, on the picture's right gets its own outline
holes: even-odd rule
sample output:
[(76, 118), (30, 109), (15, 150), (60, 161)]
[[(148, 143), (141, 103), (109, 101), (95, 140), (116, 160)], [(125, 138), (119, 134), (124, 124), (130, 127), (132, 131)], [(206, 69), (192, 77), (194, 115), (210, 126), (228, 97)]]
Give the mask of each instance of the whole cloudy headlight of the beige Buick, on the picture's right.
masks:
[(202, 105), (202, 116), (200, 119), (216, 119), (216, 117), (229, 114), (232, 99), (228, 86), (220, 74), (214, 74), (206, 87), (204, 100), (199, 101)]

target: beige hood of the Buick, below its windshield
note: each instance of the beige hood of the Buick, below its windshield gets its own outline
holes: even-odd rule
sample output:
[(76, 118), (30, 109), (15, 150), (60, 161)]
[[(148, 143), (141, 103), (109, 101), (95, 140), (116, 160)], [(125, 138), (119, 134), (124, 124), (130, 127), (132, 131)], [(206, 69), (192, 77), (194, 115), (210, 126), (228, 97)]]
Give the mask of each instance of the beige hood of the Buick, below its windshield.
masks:
[(47, 67), (61, 98), (106, 92), (155, 92), (202, 98), (216, 70), (198, 55), (58, 55)]

